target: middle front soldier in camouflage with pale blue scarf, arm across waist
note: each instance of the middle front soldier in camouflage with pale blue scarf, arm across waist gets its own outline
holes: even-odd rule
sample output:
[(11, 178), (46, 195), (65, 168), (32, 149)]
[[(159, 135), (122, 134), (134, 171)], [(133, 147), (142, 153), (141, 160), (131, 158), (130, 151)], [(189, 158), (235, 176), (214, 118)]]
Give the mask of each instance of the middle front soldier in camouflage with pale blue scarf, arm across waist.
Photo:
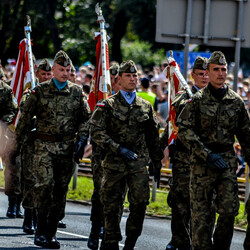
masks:
[(92, 140), (107, 150), (103, 161), (101, 201), (104, 206), (104, 239), (101, 249), (117, 250), (122, 239), (120, 211), (126, 184), (130, 214), (124, 249), (134, 249), (149, 203), (149, 158), (159, 179), (163, 152), (159, 147), (158, 121), (149, 102), (136, 96), (137, 69), (133, 61), (120, 65), (120, 91), (97, 104), (91, 118)]

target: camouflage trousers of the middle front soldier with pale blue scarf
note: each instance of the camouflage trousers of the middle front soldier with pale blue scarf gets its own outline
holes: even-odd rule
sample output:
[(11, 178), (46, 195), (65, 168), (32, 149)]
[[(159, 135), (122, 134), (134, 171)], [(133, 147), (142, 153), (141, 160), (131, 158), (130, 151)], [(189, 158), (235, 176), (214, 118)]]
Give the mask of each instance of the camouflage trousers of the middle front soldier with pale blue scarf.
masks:
[(126, 185), (130, 214), (126, 222), (126, 236), (138, 238), (149, 203), (149, 176), (146, 167), (136, 171), (119, 172), (104, 168), (101, 200), (104, 206), (104, 241), (118, 242), (122, 239), (120, 230), (121, 208)]

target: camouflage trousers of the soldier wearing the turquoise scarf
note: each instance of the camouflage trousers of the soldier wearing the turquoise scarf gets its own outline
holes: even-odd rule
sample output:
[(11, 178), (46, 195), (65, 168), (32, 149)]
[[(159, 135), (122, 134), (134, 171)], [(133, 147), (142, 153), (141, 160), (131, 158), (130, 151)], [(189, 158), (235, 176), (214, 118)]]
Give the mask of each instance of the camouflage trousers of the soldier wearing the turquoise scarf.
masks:
[(65, 215), (66, 195), (75, 165), (73, 152), (54, 154), (47, 145), (35, 142), (34, 205), (38, 214), (46, 215), (49, 221), (58, 222)]

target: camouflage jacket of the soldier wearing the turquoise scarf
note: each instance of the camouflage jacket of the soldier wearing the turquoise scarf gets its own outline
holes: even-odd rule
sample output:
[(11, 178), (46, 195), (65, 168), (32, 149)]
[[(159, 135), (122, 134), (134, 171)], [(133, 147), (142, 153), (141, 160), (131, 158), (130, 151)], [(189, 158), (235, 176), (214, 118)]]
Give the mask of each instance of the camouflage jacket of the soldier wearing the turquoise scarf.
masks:
[(22, 114), (16, 129), (18, 142), (32, 126), (36, 116), (37, 135), (45, 136), (87, 136), (86, 122), (90, 109), (82, 89), (68, 82), (61, 91), (53, 80), (37, 85), (22, 106)]

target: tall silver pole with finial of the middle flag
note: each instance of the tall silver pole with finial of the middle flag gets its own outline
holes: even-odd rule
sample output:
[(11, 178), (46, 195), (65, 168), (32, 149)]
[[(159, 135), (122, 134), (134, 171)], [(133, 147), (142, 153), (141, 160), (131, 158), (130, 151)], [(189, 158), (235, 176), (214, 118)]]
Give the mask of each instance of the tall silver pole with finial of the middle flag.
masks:
[(105, 30), (105, 20), (102, 15), (102, 9), (99, 6), (99, 3), (95, 6), (95, 12), (97, 14), (97, 21), (100, 24), (100, 33), (101, 33), (101, 57), (102, 57), (102, 76), (103, 76), (103, 85), (104, 85), (104, 91), (103, 91), (103, 99), (107, 99), (108, 97), (108, 76), (107, 76), (107, 54), (106, 54), (106, 44), (107, 44), (107, 34)]

